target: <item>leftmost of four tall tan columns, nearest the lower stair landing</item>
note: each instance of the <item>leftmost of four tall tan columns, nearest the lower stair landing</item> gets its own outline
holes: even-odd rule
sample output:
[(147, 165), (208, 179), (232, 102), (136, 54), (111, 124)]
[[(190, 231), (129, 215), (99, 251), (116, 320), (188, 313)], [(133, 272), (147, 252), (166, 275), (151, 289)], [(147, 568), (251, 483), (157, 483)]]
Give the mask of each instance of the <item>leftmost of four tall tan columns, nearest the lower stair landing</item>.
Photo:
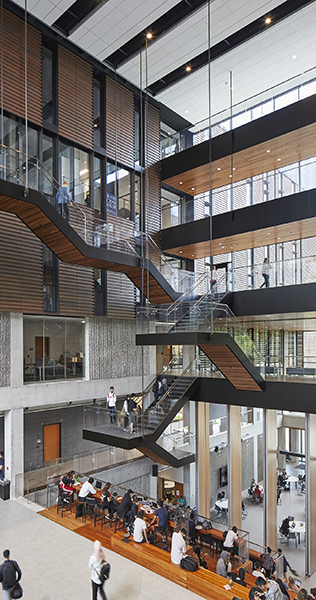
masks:
[(207, 402), (197, 402), (197, 484), (198, 484), (198, 513), (204, 517), (210, 516), (210, 405)]

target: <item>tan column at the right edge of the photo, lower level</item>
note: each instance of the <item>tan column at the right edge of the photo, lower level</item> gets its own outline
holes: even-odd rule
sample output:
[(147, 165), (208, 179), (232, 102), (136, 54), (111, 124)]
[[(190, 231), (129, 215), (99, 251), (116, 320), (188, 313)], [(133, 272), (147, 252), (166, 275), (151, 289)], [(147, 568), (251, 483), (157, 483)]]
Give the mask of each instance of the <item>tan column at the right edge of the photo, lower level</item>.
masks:
[(316, 570), (316, 415), (305, 416), (306, 454), (306, 546), (305, 573), (310, 576)]

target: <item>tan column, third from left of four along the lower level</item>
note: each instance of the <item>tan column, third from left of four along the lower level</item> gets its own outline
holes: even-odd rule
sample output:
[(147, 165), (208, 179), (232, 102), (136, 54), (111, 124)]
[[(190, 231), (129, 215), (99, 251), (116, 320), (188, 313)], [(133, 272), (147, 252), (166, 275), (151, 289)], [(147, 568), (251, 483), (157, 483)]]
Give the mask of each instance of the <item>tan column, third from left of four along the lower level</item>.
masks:
[(277, 413), (263, 411), (263, 485), (264, 517), (263, 540), (265, 546), (277, 548)]

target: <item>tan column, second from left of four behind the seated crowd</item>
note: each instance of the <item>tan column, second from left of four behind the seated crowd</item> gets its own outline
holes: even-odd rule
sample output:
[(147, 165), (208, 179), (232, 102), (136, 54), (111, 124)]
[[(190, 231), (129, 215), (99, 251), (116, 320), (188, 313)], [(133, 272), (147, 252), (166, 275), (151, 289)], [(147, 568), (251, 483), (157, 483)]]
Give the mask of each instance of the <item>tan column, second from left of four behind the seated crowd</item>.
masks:
[(241, 529), (241, 425), (240, 406), (228, 409), (228, 523)]

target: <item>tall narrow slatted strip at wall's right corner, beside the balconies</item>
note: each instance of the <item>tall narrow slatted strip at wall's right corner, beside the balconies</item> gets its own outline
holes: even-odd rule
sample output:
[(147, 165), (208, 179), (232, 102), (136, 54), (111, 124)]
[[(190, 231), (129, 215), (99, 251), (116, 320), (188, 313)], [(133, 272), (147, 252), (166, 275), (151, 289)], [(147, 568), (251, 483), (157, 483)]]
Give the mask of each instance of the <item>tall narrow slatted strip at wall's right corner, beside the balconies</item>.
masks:
[[(160, 248), (160, 111), (149, 105), (148, 108), (146, 107), (145, 115), (147, 120), (145, 137), (148, 140), (145, 148), (146, 166), (148, 168), (148, 189), (147, 178), (145, 177), (146, 232), (154, 238)], [(150, 258), (154, 260), (154, 257), (150, 256)]]

